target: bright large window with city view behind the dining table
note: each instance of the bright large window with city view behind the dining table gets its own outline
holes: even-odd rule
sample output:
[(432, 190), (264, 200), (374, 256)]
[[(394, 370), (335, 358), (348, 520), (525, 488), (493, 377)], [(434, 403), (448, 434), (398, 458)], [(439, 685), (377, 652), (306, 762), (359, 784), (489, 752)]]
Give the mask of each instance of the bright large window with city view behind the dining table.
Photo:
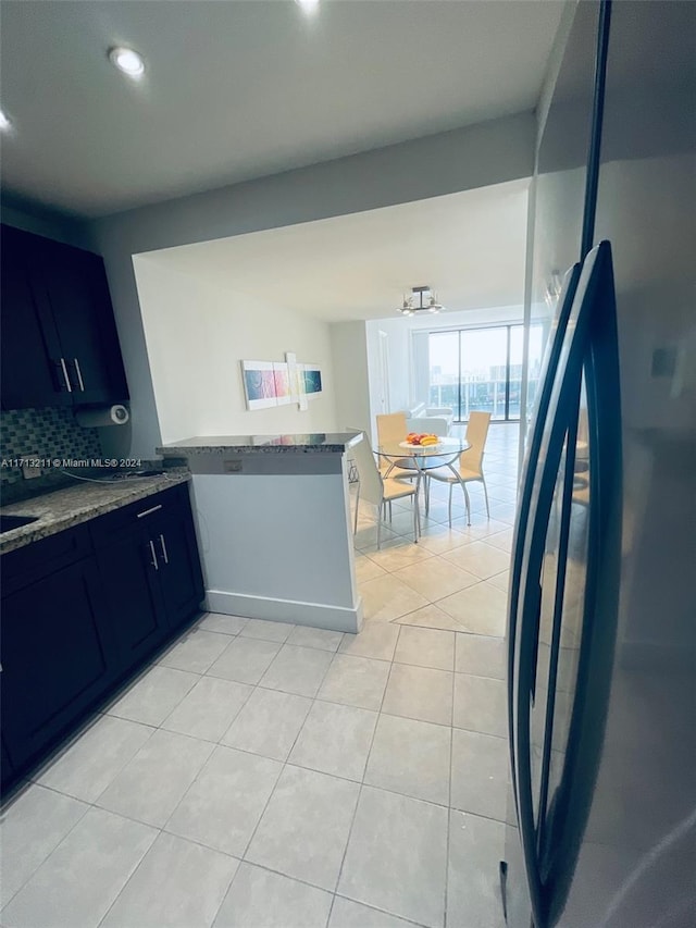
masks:
[[(467, 422), (472, 410), (498, 421), (520, 418), (524, 326), (459, 329), (428, 337), (430, 403), (450, 406)], [(543, 352), (543, 325), (530, 329), (527, 403), (536, 395)]]

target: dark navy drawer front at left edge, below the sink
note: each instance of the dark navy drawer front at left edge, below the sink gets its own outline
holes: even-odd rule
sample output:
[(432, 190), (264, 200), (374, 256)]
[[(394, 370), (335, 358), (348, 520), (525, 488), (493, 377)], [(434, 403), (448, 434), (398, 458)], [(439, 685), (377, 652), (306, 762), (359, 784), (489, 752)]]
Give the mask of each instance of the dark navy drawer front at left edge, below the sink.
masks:
[(0, 557), (3, 598), (91, 553), (89, 530), (84, 524), (3, 554)]

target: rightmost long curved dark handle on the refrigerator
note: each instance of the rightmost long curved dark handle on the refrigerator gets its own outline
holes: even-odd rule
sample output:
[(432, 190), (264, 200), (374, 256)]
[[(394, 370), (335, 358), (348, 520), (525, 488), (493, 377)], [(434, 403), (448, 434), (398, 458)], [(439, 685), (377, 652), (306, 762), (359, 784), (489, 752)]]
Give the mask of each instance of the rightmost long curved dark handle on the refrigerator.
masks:
[(586, 360), (589, 430), (589, 528), (583, 627), (568, 751), (548, 818), (548, 881), (545, 915), (560, 917), (573, 879), (579, 847), (604, 750), (612, 681), (621, 577), (622, 428), (618, 333), (611, 248), (595, 256), (593, 332)]

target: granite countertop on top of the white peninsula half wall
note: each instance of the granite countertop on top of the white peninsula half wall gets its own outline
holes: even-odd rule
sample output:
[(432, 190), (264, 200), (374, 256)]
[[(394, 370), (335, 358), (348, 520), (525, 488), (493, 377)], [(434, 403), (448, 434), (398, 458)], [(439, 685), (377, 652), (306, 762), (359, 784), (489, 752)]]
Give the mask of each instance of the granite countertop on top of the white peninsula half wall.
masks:
[(157, 449), (159, 455), (339, 454), (358, 441), (360, 432), (314, 432), (296, 435), (199, 435)]

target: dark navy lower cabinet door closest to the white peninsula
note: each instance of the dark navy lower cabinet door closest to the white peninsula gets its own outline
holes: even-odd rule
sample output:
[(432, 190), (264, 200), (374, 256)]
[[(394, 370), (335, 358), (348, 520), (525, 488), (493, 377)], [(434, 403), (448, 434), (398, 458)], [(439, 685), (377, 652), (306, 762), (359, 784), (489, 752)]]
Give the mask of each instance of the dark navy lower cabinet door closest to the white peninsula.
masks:
[(186, 487), (149, 525), (158, 559), (166, 620), (178, 627), (203, 598), (203, 578)]

